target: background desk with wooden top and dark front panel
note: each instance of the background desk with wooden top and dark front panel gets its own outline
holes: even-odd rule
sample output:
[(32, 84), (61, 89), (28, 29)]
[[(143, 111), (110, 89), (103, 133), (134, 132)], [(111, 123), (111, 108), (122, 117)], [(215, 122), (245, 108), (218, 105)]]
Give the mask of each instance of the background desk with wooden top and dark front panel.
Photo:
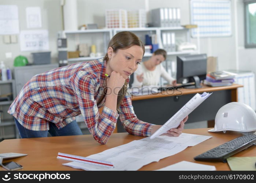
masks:
[[(212, 95), (189, 115), (186, 123), (207, 120), (208, 127), (214, 127), (214, 119), (218, 110), (229, 102), (238, 101), (238, 87), (242, 87), (242, 85), (234, 84), (232, 86), (221, 87), (203, 85), (202, 88), (197, 89), (183, 88), (175, 91), (163, 91), (158, 94), (132, 96), (132, 104), (138, 119), (144, 122), (162, 125), (196, 93), (212, 92)], [(119, 119), (117, 131), (126, 132)]]

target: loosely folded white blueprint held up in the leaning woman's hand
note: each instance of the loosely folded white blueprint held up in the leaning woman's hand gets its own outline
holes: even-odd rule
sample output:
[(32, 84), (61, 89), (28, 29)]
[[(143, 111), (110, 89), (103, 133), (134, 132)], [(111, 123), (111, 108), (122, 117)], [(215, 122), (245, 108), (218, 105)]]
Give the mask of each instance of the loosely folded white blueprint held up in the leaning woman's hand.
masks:
[[(212, 93), (211, 93), (212, 94)], [(204, 92), (203, 94), (197, 93), (192, 97), (178, 112), (175, 113), (162, 127), (150, 136), (153, 139), (161, 134), (166, 133), (170, 128), (177, 128), (181, 121), (188, 116), (194, 109), (196, 109), (206, 98), (211, 94)]]

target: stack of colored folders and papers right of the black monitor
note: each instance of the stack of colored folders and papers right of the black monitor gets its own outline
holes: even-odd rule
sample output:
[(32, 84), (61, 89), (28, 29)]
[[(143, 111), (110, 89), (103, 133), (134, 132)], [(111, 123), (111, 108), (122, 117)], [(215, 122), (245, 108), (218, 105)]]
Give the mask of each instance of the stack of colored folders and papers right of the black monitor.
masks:
[(230, 86), (234, 83), (235, 73), (228, 71), (216, 71), (206, 75), (205, 85), (209, 86)]

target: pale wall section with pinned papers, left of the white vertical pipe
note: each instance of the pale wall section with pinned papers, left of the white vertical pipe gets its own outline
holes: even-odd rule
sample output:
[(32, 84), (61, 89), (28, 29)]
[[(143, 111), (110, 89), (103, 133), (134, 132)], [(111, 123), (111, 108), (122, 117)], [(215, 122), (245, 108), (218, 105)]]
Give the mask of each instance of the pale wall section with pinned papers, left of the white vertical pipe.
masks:
[[(41, 8), (42, 27), (40, 29), (48, 29), (49, 33), (49, 50), (51, 51), (52, 62), (57, 62), (57, 31), (62, 29), (60, 1), (59, 0), (1, 0), (0, 5), (17, 5), (19, 12), (19, 30), (36, 30), (27, 29), (26, 25), (26, 7), (39, 6)], [(31, 52), (21, 52), (18, 43), (4, 44), (3, 36), (0, 35), (0, 60), (5, 65), (13, 67), (13, 60), (18, 55), (24, 55), (32, 62)], [(6, 59), (5, 52), (12, 52), (12, 58)]]

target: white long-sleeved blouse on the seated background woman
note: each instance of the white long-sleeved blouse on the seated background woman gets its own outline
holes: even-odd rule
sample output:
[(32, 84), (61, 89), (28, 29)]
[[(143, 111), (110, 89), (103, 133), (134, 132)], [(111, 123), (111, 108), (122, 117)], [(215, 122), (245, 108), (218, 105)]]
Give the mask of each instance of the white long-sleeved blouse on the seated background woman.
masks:
[[(137, 79), (137, 75), (143, 74), (143, 81), (139, 82)], [(137, 70), (134, 72), (133, 75), (133, 83), (132, 87), (141, 85), (149, 86), (149, 85), (159, 85), (160, 77), (163, 77), (166, 79), (166, 81), (171, 85), (172, 81), (175, 79), (170, 76), (170, 74), (164, 69), (162, 64), (158, 64), (153, 71), (149, 71), (145, 64), (142, 62), (140, 65), (138, 65)]]

